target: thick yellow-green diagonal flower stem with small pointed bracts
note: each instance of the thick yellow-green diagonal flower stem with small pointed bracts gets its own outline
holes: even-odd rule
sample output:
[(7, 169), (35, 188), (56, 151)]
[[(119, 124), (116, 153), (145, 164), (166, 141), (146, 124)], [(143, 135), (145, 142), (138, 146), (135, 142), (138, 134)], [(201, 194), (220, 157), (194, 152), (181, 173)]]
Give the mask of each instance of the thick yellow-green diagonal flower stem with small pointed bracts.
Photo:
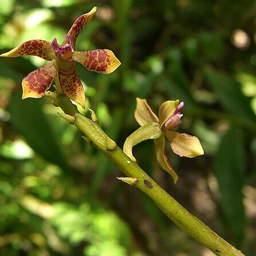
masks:
[[(141, 189), (151, 197), (154, 203), (169, 219), (185, 232), (195, 238), (199, 243), (207, 247), (219, 256), (242, 256), (241, 251), (222, 239), (203, 222), (190, 214), (172, 196), (160, 187), (151, 177), (145, 173), (137, 163), (133, 162), (123, 151), (117, 147), (114, 141), (100, 128), (96, 116), (92, 113), (92, 120), (81, 115), (76, 107), (64, 97), (57, 98), (57, 104), (68, 115), (61, 116), (75, 125), (86, 135), (86, 141), (98, 148), (110, 161), (112, 161), (127, 177), (134, 179), (121, 180)], [(71, 117), (71, 115), (73, 117)]]

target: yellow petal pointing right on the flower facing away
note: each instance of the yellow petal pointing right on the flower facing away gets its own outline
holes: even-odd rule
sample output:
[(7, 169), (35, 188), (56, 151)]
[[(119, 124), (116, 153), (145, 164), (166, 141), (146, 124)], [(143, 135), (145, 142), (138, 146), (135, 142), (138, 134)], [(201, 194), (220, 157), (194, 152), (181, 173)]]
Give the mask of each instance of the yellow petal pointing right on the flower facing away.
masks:
[(170, 142), (173, 152), (180, 157), (196, 157), (204, 154), (199, 139), (187, 133), (177, 133), (176, 131), (166, 131), (165, 136)]

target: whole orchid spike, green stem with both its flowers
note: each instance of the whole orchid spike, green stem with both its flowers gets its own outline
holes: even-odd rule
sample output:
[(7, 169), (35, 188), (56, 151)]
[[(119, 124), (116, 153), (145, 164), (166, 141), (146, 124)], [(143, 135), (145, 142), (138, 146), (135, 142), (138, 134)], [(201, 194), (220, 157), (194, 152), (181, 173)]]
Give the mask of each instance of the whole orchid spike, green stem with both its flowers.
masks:
[[(90, 110), (91, 118), (84, 117), (69, 100), (74, 100), (82, 107), (86, 106), (83, 87), (76, 75), (74, 61), (82, 63), (89, 70), (101, 73), (110, 73), (120, 65), (114, 53), (109, 50), (75, 51), (76, 38), (84, 26), (90, 22), (95, 11), (96, 7), (77, 18), (67, 36), (64, 36), (62, 45), (57, 44), (56, 38), (52, 43), (44, 40), (30, 40), (1, 55), (2, 57), (34, 55), (50, 61), (24, 78), (22, 99), (41, 98), (43, 95), (53, 98), (53, 104), (60, 106), (65, 113), (60, 116), (80, 129), (85, 135), (84, 139), (90, 145), (98, 148), (126, 174), (127, 177), (120, 177), (120, 180), (145, 192), (169, 219), (216, 255), (243, 255), (166, 193), (138, 166), (131, 152), (135, 144), (145, 139), (154, 139), (158, 162), (176, 182), (177, 175), (165, 156), (165, 137), (168, 138), (173, 152), (179, 156), (195, 157), (203, 154), (199, 139), (172, 131), (181, 122), (180, 110), (183, 102), (169, 100), (162, 103), (158, 119), (146, 100), (138, 99), (135, 119), (142, 127), (127, 138), (124, 145), (126, 153), (124, 153), (101, 129), (94, 111)], [(46, 92), (53, 79), (55, 79), (56, 92)]]

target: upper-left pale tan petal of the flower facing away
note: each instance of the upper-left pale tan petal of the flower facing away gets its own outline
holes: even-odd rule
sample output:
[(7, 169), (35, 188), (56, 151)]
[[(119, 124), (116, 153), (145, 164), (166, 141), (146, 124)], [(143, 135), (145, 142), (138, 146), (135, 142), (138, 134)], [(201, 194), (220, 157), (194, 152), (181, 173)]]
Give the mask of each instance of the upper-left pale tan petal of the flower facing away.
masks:
[(147, 123), (158, 123), (158, 117), (156, 116), (156, 114), (154, 114), (148, 102), (145, 99), (136, 98), (136, 100), (137, 106), (134, 117), (138, 124), (143, 126)]

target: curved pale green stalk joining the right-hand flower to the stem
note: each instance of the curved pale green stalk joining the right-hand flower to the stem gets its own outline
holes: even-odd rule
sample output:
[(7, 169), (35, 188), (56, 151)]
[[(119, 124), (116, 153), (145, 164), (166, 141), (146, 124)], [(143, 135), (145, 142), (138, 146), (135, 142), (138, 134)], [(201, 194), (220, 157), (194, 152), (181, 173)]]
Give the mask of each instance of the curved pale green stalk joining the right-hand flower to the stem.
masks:
[(123, 152), (131, 158), (131, 160), (136, 161), (133, 156), (133, 146), (137, 145), (139, 142), (145, 141), (146, 139), (156, 139), (162, 135), (158, 123), (148, 123), (138, 130), (135, 130), (125, 141), (123, 145)]

